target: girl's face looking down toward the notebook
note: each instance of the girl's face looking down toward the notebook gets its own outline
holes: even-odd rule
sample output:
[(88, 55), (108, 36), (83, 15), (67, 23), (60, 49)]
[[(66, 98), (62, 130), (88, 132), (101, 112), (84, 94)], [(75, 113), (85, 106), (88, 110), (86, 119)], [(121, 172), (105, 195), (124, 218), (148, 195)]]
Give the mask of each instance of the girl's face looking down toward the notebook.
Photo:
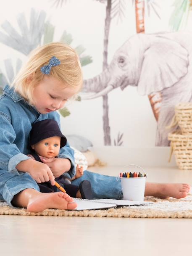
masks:
[(41, 114), (63, 108), (65, 103), (78, 91), (78, 88), (68, 87), (55, 77), (45, 75), (43, 80), (34, 88), (34, 106)]

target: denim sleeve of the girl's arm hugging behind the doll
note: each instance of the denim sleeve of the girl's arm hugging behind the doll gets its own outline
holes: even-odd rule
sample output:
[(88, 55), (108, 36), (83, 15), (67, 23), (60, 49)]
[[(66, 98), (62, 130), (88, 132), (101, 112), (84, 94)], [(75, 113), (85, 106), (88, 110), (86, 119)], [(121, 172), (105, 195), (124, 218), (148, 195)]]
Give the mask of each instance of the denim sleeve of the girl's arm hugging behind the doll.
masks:
[[(49, 115), (49, 118), (54, 119), (58, 122), (58, 125), (60, 127), (60, 115), (57, 112), (52, 112)], [(68, 158), (71, 162), (71, 169), (68, 172), (65, 172), (63, 175), (66, 178), (73, 178), (76, 174), (76, 168), (75, 168), (75, 157), (74, 157), (74, 150), (70, 147), (70, 145), (67, 144), (60, 149), (59, 158)]]

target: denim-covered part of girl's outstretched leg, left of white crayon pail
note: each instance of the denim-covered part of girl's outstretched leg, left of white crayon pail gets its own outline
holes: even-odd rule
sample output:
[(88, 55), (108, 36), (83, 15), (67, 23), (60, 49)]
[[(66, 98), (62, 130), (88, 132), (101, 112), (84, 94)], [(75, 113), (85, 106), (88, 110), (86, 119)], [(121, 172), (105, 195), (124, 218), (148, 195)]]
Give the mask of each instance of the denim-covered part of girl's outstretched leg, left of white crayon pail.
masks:
[(92, 193), (94, 199), (110, 198), (122, 199), (123, 193), (120, 179), (114, 176), (98, 174), (95, 172), (84, 171), (82, 177), (71, 181), (74, 185), (79, 185), (83, 180), (91, 182)]

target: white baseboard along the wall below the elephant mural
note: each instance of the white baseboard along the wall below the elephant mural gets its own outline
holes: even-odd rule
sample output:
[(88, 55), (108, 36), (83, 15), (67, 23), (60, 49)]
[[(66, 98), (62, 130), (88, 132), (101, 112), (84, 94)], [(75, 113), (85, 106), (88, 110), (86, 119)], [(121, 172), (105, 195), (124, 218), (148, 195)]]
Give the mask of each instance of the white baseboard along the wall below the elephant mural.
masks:
[(90, 147), (90, 151), (108, 165), (138, 164), (141, 166), (176, 167), (175, 156), (170, 163), (170, 147), (128, 148), (118, 146)]

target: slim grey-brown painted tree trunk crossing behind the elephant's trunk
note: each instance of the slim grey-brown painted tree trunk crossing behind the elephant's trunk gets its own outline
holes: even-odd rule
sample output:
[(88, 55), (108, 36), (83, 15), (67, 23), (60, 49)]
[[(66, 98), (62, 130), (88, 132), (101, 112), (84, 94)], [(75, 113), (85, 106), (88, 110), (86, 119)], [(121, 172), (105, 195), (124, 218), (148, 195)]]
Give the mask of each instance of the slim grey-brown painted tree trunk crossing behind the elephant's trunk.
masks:
[[(103, 50), (103, 70), (108, 66), (108, 38), (109, 38), (109, 29), (110, 29), (110, 17), (111, 13), (111, 0), (107, 1), (106, 7), (106, 18), (105, 18), (105, 34), (104, 34), (104, 50)], [(104, 132), (104, 144), (111, 145), (110, 139), (110, 126), (109, 126), (109, 116), (108, 116), (108, 95), (103, 97), (103, 132)]]

